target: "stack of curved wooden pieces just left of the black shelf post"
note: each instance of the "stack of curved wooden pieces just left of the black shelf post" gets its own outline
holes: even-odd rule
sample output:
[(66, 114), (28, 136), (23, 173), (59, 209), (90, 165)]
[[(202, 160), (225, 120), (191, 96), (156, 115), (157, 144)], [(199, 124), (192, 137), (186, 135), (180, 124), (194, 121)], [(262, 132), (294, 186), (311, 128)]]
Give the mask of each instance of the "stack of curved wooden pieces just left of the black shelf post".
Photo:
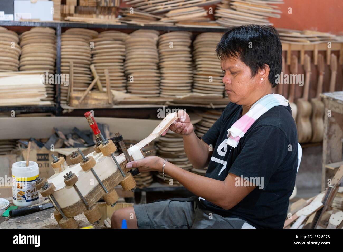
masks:
[(20, 35), (20, 71), (55, 73), (56, 35), (49, 27), (33, 27)]

